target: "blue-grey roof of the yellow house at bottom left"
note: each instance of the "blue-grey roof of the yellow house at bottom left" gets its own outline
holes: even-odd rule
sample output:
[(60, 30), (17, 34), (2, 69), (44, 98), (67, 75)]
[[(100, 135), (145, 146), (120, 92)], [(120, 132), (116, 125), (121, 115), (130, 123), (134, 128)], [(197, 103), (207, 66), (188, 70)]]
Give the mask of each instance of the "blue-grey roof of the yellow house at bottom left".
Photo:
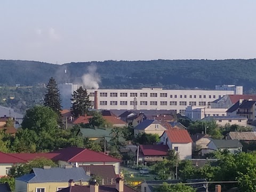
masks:
[(60, 168), (52, 167), (51, 169), (33, 168), (30, 174), (23, 175), (16, 180), (25, 181), (27, 183), (43, 183), (43, 182), (68, 182), (70, 179), (74, 181), (89, 181), (90, 176), (86, 175), (83, 167)]

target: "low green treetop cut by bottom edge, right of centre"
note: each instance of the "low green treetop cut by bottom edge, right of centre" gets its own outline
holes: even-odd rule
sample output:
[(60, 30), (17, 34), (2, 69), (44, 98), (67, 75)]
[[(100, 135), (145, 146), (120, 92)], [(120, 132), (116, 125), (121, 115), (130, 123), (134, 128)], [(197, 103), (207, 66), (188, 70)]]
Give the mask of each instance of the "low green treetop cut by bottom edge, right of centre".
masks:
[(166, 182), (163, 183), (164, 185), (159, 187), (157, 191), (159, 192), (196, 192), (196, 189), (193, 189), (193, 187), (183, 185), (181, 183), (178, 183), (176, 185), (169, 185)]

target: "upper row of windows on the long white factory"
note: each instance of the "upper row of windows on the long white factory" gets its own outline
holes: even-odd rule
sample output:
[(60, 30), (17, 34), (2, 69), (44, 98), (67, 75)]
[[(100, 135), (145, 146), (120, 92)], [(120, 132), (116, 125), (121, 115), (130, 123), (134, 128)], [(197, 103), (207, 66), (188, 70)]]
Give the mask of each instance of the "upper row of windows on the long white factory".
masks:
[[(149, 95), (150, 97), (157, 97), (157, 93), (150, 93)], [(94, 97), (94, 92), (90, 93), (90, 97)], [(100, 93), (100, 97), (108, 97), (108, 93)], [(110, 97), (117, 97), (117, 93), (110, 93)], [(128, 97), (128, 93), (120, 93), (120, 97)], [(130, 97), (138, 97), (138, 93), (130, 93)], [(148, 93), (140, 93), (140, 97), (148, 97)], [(160, 93), (160, 97), (167, 98), (167, 93)], [(197, 95), (188, 95), (188, 97), (197, 98)], [(170, 95), (170, 98), (178, 98), (178, 95)], [(179, 98), (187, 98), (187, 95), (179, 95)], [(198, 98), (206, 99), (206, 95), (198, 95)], [(216, 95), (208, 95), (208, 98), (216, 99)]]

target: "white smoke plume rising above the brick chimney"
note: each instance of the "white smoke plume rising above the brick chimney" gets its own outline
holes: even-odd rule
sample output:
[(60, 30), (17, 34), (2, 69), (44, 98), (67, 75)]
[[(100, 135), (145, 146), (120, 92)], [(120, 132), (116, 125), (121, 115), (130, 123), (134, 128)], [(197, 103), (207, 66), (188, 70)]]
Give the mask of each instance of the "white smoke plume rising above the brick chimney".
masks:
[(88, 73), (82, 77), (85, 89), (99, 89), (101, 80), (99, 74), (96, 72), (97, 66), (92, 63), (87, 67), (87, 70)]

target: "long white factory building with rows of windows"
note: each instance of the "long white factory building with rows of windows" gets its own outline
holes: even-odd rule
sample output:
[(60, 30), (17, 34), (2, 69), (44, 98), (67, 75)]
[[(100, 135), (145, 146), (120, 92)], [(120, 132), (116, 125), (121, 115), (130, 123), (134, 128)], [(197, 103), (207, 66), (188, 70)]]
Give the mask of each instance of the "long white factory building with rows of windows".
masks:
[[(70, 109), (71, 94), (79, 85), (60, 84), (59, 86), (62, 108)], [(226, 94), (236, 94), (234, 87), (218, 87), (218, 90), (87, 90), (90, 94), (92, 105), (97, 109), (138, 109), (138, 110), (176, 110), (185, 114), (187, 106), (207, 106), (209, 102), (223, 97)], [(239, 92), (239, 94), (242, 94)], [(94, 102), (96, 101), (95, 105)]]

